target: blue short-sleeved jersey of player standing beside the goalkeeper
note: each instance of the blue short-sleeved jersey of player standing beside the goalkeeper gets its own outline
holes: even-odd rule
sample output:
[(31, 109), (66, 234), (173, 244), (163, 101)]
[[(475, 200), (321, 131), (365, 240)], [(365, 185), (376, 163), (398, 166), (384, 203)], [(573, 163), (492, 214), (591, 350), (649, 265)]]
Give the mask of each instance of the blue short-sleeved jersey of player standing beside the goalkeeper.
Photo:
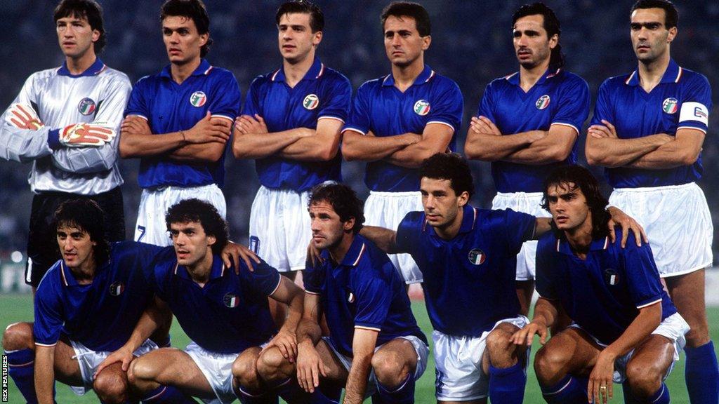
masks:
[[(215, 68), (202, 60), (183, 81), (175, 83), (166, 66), (156, 75), (139, 79), (132, 89), (125, 116), (147, 120), (153, 134), (188, 130), (209, 111), (212, 116), (234, 122), (242, 98), (229, 70)], [(224, 183), (224, 153), (216, 162), (181, 162), (165, 155), (142, 157), (137, 183), (142, 188), (192, 187)]]

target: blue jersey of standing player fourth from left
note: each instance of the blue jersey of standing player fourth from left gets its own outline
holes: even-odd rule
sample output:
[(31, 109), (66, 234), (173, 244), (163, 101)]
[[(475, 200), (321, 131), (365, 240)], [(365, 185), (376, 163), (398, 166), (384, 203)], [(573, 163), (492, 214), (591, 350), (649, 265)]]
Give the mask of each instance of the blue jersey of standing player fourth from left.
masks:
[[(425, 65), (404, 93), (395, 87), (391, 74), (362, 84), (343, 131), (363, 135), (372, 132), (377, 137), (386, 137), (422, 134), (428, 124), (443, 124), (452, 128), (448, 148), (454, 151), (463, 108), (462, 92), (457, 84)], [(367, 162), (365, 184), (375, 191), (418, 191), (419, 173), (415, 168), (400, 167), (384, 160), (371, 161)]]

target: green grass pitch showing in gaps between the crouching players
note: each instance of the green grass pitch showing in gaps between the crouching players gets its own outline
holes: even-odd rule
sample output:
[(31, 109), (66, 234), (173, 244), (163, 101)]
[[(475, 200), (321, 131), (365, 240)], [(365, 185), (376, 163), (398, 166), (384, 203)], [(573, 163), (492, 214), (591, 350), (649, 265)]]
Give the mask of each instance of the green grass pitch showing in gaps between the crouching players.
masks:
[[(431, 326), (427, 313), (422, 302), (413, 302), (413, 311), (417, 317), (419, 326), (429, 336), (431, 333)], [(28, 321), (32, 319), (32, 300), (29, 295), (0, 295), (0, 325), (7, 326), (10, 323), (17, 321)], [(719, 341), (719, 308), (709, 308), (709, 325), (712, 338), (715, 341)], [(183, 333), (177, 322), (173, 323), (172, 329), (173, 345), (183, 347), (188, 343), (187, 336)], [(539, 343), (536, 342), (533, 346), (532, 352), (536, 352), (539, 349)], [(533, 359), (533, 356), (532, 356)], [(689, 403), (687, 398), (687, 389), (684, 387), (684, 355), (682, 354), (682, 361), (677, 364), (674, 368), (672, 375), (667, 379), (667, 385), (669, 391), (672, 393), (672, 403), (684, 404)], [(68, 387), (60, 385), (58, 383), (58, 403), (99, 403), (96, 396), (90, 392), (88, 395), (78, 397), (70, 391)], [(611, 402), (623, 403), (621, 387), (615, 385), (615, 397)], [(369, 401), (369, 400), (368, 400)], [(368, 402), (367, 401), (367, 402)], [(12, 380), (9, 381), (9, 403), (23, 403), (22, 397), (20, 396), (17, 388), (15, 387)], [(431, 359), (427, 365), (427, 371), (417, 382), (416, 390), (416, 403), (429, 404), (435, 403), (434, 399), (434, 361)], [(534, 377), (534, 371), (532, 367), (528, 370), (528, 380), (526, 393), (524, 396), (525, 403), (544, 403), (541, 398), (541, 392), (539, 391), (539, 385), (537, 385), (536, 377)], [(236, 402), (237, 403), (237, 402)]]

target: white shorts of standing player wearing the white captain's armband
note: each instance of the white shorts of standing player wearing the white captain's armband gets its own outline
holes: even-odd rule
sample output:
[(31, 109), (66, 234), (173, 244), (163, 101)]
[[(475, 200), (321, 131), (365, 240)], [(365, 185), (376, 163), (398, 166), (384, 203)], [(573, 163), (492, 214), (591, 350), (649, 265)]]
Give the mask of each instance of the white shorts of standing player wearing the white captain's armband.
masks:
[(712, 264), (712, 216), (697, 184), (617, 188), (609, 204), (644, 226), (659, 276), (684, 275)]

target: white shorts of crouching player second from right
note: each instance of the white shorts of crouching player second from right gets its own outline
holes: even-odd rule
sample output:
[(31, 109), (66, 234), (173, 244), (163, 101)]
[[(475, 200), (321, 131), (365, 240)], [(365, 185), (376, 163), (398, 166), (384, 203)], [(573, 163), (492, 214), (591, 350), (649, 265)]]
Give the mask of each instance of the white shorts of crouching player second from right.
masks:
[[(479, 337), (452, 336), (432, 331), (434, 362), (436, 365), (435, 395), (438, 401), (480, 400), (489, 394), (490, 376), (482, 370), (482, 357), (487, 347), (487, 336), (501, 323), (523, 328), (529, 323), (525, 316), (497, 321), (490, 331)], [(527, 348), (529, 364), (529, 348)]]

